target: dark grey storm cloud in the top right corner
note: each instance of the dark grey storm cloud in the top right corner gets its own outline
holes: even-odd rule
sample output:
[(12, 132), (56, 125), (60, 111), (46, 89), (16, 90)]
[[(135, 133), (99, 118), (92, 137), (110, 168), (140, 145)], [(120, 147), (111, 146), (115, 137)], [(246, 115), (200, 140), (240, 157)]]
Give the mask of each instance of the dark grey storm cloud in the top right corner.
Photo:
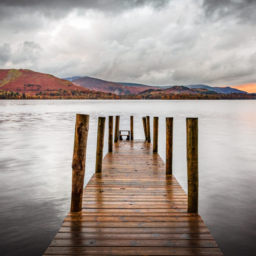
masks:
[(207, 18), (236, 17), (240, 22), (256, 23), (256, 0), (204, 0)]

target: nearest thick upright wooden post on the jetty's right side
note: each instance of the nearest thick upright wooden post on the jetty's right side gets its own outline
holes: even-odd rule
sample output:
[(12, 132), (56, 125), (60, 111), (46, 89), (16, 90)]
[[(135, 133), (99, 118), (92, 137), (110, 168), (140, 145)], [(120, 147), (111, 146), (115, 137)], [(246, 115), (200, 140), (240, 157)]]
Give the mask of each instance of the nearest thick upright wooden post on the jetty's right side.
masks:
[(186, 118), (188, 212), (198, 212), (198, 118)]

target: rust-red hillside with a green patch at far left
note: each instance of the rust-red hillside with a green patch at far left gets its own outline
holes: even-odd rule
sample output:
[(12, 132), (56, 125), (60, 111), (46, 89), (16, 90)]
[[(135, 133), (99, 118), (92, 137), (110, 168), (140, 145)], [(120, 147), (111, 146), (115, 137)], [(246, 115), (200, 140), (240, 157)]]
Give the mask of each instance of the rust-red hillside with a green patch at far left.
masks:
[(0, 69), (0, 90), (35, 95), (40, 91), (81, 89), (70, 81), (29, 69)]

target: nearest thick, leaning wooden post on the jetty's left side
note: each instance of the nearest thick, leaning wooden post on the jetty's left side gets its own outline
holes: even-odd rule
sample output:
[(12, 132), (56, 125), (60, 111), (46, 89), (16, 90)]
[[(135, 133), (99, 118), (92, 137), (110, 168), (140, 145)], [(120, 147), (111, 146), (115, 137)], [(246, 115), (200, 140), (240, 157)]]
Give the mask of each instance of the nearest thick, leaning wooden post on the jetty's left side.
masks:
[(71, 212), (82, 211), (85, 156), (89, 130), (89, 115), (76, 114), (75, 140), (72, 161)]

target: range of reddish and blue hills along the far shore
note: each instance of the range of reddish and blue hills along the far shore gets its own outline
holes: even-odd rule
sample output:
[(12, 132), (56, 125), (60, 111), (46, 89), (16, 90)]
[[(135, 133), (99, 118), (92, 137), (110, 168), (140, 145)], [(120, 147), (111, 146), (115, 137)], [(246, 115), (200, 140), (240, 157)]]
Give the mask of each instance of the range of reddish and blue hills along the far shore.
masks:
[[(211, 87), (205, 84), (189, 84), (187, 86), (148, 86), (138, 83), (109, 82), (106, 80), (91, 78), (89, 76), (73, 76), (60, 79), (56, 76), (34, 72), (29, 69), (0, 69), (0, 90), (17, 91), (19, 93), (29, 93), (31, 95), (46, 91), (55, 91), (59, 89), (78, 89), (82, 87), (102, 91), (104, 93), (115, 93), (117, 95), (139, 94), (143, 91), (163, 90), (165, 93), (202, 93), (208, 91), (229, 94), (246, 93), (231, 87)], [(171, 88), (175, 87), (175, 90)], [(182, 87), (182, 88), (179, 88)], [(184, 88), (183, 88), (184, 87)], [(165, 90), (165, 89), (170, 90)], [(187, 90), (191, 89), (191, 90)], [(193, 90), (198, 89), (198, 90)], [(201, 93), (201, 91), (200, 91)]]

